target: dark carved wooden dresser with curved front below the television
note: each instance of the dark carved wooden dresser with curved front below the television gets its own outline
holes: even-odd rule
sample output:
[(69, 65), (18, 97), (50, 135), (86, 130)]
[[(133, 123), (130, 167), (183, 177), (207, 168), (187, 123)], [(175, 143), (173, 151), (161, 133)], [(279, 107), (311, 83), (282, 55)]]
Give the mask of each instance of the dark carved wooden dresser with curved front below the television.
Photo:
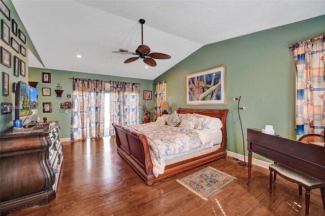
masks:
[(24, 129), (0, 137), (0, 211), (7, 214), (55, 199), (63, 161), (60, 126)]

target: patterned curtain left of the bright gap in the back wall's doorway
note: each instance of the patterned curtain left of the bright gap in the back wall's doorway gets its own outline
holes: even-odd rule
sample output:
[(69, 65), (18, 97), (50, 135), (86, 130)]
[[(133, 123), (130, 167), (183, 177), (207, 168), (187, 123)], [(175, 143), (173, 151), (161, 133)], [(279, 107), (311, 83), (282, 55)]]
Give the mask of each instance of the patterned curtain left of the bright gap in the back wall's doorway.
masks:
[(71, 141), (104, 136), (105, 81), (73, 79)]

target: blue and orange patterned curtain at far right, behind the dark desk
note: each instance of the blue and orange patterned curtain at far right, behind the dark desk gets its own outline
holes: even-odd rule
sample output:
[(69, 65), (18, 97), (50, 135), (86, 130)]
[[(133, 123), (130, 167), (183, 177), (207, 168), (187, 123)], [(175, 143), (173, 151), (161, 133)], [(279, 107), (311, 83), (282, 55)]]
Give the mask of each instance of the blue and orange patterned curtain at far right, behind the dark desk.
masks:
[(325, 35), (295, 44), (297, 73), (297, 139), (305, 134), (324, 135)]

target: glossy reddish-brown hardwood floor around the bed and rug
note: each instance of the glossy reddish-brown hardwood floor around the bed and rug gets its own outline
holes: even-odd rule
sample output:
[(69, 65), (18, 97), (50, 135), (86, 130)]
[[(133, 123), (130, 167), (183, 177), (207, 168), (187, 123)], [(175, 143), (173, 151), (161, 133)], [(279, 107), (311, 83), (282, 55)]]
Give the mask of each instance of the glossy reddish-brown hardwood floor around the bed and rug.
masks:
[[(221, 159), (145, 186), (117, 155), (115, 138), (63, 143), (64, 161), (56, 199), (10, 215), (304, 215), (305, 196), (280, 176), (269, 194), (269, 170)], [(205, 201), (176, 182), (207, 166), (237, 177)], [(319, 190), (312, 190), (309, 215), (325, 215)]]

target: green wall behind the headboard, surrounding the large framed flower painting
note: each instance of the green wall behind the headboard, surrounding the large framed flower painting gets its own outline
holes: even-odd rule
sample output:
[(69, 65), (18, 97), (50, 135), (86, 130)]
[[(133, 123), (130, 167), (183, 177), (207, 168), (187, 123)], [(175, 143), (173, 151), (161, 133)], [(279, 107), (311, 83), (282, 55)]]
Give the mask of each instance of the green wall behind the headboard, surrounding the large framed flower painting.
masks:
[[(296, 72), (294, 53), (288, 47), (324, 34), (324, 23), (325, 15), (205, 45), (154, 82), (167, 82), (166, 99), (173, 111), (178, 107), (229, 109), (229, 151), (243, 153), (237, 101), (232, 100), (240, 95), (240, 105), (246, 107), (240, 111), (245, 140), (246, 128), (265, 125), (273, 125), (276, 134), (295, 139)], [(186, 105), (185, 75), (222, 64), (226, 105)]]

